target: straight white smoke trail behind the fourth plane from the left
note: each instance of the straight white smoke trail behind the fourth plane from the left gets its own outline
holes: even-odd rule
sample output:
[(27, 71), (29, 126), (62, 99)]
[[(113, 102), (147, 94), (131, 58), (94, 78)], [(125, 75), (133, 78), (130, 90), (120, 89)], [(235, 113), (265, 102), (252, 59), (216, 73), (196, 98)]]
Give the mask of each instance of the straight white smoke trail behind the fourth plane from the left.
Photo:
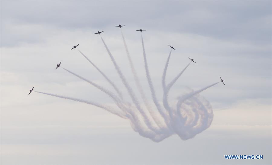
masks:
[[(101, 37), (101, 36), (100, 36)], [(145, 114), (144, 110), (141, 108), (140, 103), (138, 102), (138, 99), (136, 98), (133, 90), (131, 89), (131, 87), (129, 86), (127, 80), (125, 79), (125, 77), (123, 76), (123, 73), (121, 72), (118, 64), (116, 63), (114, 57), (112, 56), (112, 53), (110, 52), (110, 50), (108, 49), (108, 46), (106, 45), (105, 41), (103, 40), (103, 38), (101, 37), (101, 40), (108, 52), (108, 55), (110, 56), (112, 63), (115, 66), (115, 69), (120, 77), (120, 79), (122, 80), (123, 84), (125, 85), (126, 89), (128, 90), (128, 93), (132, 99), (132, 102), (134, 103), (134, 105), (136, 106), (136, 108), (138, 109), (138, 111), (141, 113), (141, 115), (144, 118), (144, 122), (147, 125), (148, 128), (150, 128), (152, 131), (158, 132), (159, 130), (154, 127), (154, 125), (152, 124), (151, 119)]]

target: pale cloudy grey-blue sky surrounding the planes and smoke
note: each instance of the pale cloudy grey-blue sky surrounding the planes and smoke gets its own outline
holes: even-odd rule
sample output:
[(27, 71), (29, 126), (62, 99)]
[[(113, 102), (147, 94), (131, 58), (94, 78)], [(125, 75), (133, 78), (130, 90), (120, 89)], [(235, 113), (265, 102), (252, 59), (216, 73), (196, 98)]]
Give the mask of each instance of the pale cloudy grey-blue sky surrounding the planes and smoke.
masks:
[[(0, 1), (1, 164), (271, 164), (271, 1)], [(132, 89), (136, 84), (122, 27), (148, 101), (141, 33), (161, 102), (166, 81), (193, 58), (169, 93), (203, 91), (213, 109), (209, 128), (182, 140), (154, 142), (105, 110), (29, 90), (112, 105), (105, 93), (56, 64), (113, 90), (76, 50), (92, 60), (130, 101), (97, 31)], [(136, 92), (140, 98), (139, 92)], [(225, 160), (224, 154), (263, 154)]]

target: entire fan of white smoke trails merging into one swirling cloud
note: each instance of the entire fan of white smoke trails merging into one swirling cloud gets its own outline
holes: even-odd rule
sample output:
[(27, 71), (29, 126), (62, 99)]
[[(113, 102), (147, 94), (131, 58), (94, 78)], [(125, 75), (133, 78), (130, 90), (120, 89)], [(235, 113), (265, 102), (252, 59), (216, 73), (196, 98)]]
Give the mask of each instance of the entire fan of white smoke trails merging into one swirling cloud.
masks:
[[(196, 134), (201, 133), (205, 129), (207, 129), (213, 119), (213, 112), (212, 112), (212, 106), (209, 104), (209, 102), (200, 97), (199, 93), (202, 92), (205, 89), (208, 89), (211, 86), (214, 86), (215, 84), (219, 83), (214, 83), (210, 86), (207, 86), (205, 88), (199, 89), (197, 91), (192, 91), (186, 95), (178, 97), (177, 102), (168, 102), (168, 93), (173, 86), (173, 84), (179, 79), (179, 77), (183, 74), (183, 72), (186, 70), (186, 68), (189, 66), (189, 64), (168, 84), (166, 85), (165, 78), (167, 74), (167, 68), (169, 65), (169, 60), (171, 56), (171, 52), (169, 53), (169, 56), (167, 58), (163, 75), (162, 75), (162, 87), (163, 87), (163, 105), (162, 107), (160, 103), (157, 100), (156, 97), (156, 91), (154, 89), (152, 80), (151, 80), (151, 75), (149, 73), (148, 69), (148, 64), (147, 64), (147, 58), (146, 58), (146, 53), (145, 53), (145, 48), (144, 48), (144, 40), (143, 36), (141, 35), (141, 41), (142, 41), (142, 48), (143, 48), (143, 57), (144, 57), (144, 67), (145, 67), (145, 72), (146, 72), (146, 77), (147, 77), (147, 82), (151, 91), (151, 96), (153, 99), (154, 104), (156, 105), (156, 108), (158, 110), (158, 113), (154, 114), (153, 111), (151, 111), (151, 108), (149, 107), (149, 104), (147, 102), (146, 96), (144, 94), (144, 90), (141, 86), (141, 83), (139, 81), (138, 75), (136, 73), (136, 70), (134, 68), (133, 61), (130, 57), (129, 51), (127, 44), (125, 42), (124, 35), (122, 33), (122, 38), (124, 42), (124, 46), (126, 49), (126, 53), (128, 56), (128, 61), (131, 66), (131, 71), (134, 76), (136, 85), (138, 87), (138, 90), (141, 94), (141, 98), (143, 99), (145, 106), (148, 109), (148, 112), (145, 112), (144, 109), (141, 108), (140, 102), (136, 98), (136, 95), (134, 94), (131, 86), (125, 79), (125, 76), (123, 76), (123, 73), (121, 72), (121, 69), (119, 68), (118, 64), (116, 63), (114, 57), (112, 56), (110, 50), (108, 49), (107, 45), (105, 44), (103, 38), (102, 42), (112, 60), (112, 63), (115, 66), (115, 69), (122, 80), (122, 83), (125, 85), (126, 90), (128, 91), (128, 94), (130, 95), (133, 104), (129, 102), (125, 102), (122, 99), (121, 91), (115, 86), (115, 84), (108, 79), (105, 74), (99, 70), (99, 68), (93, 64), (80, 50), (79, 52), (107, 79), (107, 81), (113, 86), (113, 88), (116, 90), (118, 95), (115, 95), (112, 93), (110, 90), (103, 88), (102, 86), (99, 86), (98, 84), (77, 75), (76, 73), (73, 73), (65, 68), (67, 72), (73, 74), (74, 76), (77, 76), (78, 78), (90, 83), (91, 85), (95, 86), (102, 92), (106, 93), (109, 97), (111, 97), (114, 101), (115, 104), (118, 106), (118, 110), (115, 110), (111, 107), (108, 107), (106, 105), (98, 104), (95, 102), (89, 102), (86, 100), (82, 99), (76, 99), (76, 98), (71, 98), (71, 97), (66, 97), (66, 96), (61, 96), (61, 95), (55, 95), (55, 94), (50, 94), (50, 93), (44, 93), (44, 92), (38, 92), (46, 95), (52, 95), (55, 97), (63, 98), (63, 99), (70, 99), (78, 102), (84, 102), (90, 105), (97, 106), (99, 108), (103, 108), (107, 110), (108, 112), (111, 112), (115, 115), (118, 115), (121, 118), (128, 119), (128, 121), (131, 124), (131, 127), (133, 128), (134, 131), (138, 132), (143, 137), (147, 137), (151, 139), (152, 141), (159, 142), (164, 140), (165, 138), (177, 134), (181, 139), (187, 140), (189, 138), (192, 138), (196, 136)], [(37, 91), (35, 91), (37, 92)], [(120, 99), (121, 98), (121, 99)], [(173, 106), (176, 105), (176, 106)], [(164, 109), (165, 108), (165, 109)]]

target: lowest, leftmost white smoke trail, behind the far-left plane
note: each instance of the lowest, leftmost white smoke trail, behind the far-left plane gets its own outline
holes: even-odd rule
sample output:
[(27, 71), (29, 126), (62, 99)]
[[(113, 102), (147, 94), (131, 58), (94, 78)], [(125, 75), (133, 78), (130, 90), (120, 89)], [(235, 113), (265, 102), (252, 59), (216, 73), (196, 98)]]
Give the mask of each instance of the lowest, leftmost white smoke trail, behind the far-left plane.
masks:
[[(38, 92), (38, 91), (34, 91), (34, 92)], [(45, 94), (45, 95), (51, 95), (51, 96), (59, 97), (59, 98), (62, 98), (62, 99), (69, 99), (69, 100), (73, 100), (73, 101), (77, 101), (77, 102), (84, 102), (86, 104), (94, 105), (96, 107), (105, 109), (106, 111), (108, 111), (108, 112), (110, 112), (110, 113), (112, 113), (114, 115), (118, 115), (121, 118), (127, 118), (127, 116), (123, 112), (118, 112), (115, 109), (113, 109), (112, 107), (108, 107), (106, 105), (102, 105), (102, 104), (98, 104), (98, 103), (95, 103), (95, 102), (86, 101), (86, 100), (83, 100), (83, 99), (77, 99), (77, 98), (73, 98), (73, 97), (66, 97), (66, 96), (51, 94), (51, 93), (45, 93), (45, 92), (38, 92), (38, 93), (42, 93), (42, 94)]]

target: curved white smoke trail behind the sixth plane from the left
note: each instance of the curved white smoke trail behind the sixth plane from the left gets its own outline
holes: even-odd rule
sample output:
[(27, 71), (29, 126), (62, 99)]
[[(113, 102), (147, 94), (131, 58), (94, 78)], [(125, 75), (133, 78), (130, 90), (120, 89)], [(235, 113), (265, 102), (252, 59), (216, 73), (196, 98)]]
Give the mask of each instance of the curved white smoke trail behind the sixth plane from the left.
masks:
[(150, 76), (150, 73), (149, 73), (149, 70), (148, 70), (148, 65), (147, 65), (147, 60), (146, 60), (146, 54), (145, 54), (145, 49), (144, 49), (144, 40), (143, 40), (143, 35), (142, 34), (141, 34), (141, 39), (142, 39), (143, 56), (144, 56), (144, 67), (145, 67), (147, 82), (148, 82), (149, 88), (151, 90), (152, 99), (153, 99), (153, 102), (156, 105), (158, 111), (160, 112), (160, 115), (162, 115), (165, 124), (167, 125), (167, 127), (169, 129), (171, 129), (170, 123), (169, 123), (170, 122), (169, 121), (170, 120), (169, 116), (167, 114), (165, 114), (165, 112), (163, 111), (163, 108), (158, 103), (158, 100), (157, 100), (157, 97), (156, 97), (154, 86), (153, 86), (153, 83), (152, 83), (152, 80), (151, 80), (151, 76)]

